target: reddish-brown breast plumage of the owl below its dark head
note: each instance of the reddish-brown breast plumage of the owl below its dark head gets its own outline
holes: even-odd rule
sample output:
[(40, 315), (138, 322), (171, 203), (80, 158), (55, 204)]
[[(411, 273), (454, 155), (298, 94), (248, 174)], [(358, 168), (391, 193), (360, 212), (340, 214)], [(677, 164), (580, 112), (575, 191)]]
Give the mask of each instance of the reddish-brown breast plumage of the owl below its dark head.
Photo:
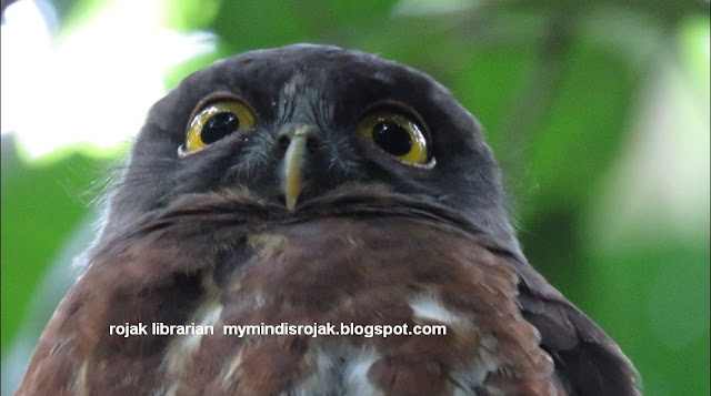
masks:
[[(127, 240), (98, 246), (50, 322), (18, 394), (77, 387), (88, 394), (171, 387), (177, 394), (278, 394), (309, 376), (328, 380), (330, 372), (319, 364), (348, 367), (365, 351), (374, 361), (362, 380), (388, 394), (552, 392), (552, 362), (517, 305), (514, 267), (477, 237), (403, 216), (250, 226), (214, 211), (239, 203), (229, 194), (177, 204)], [(199, 210), (204, 206), (210, 214)], [(196, 243), (197, 230), (210, 227), (242, 232)], [(220, 305), (218, 323), (228, 325), (438, 323), (414, 315), (412, 302), (423, 296), (457, 318), (445, 336), (240, 338), (218, 326), (218, 334), (189, 349), (187, 336), (123, 338), (108, 331), (126, 322), (189, 323), (207, 302)], [(167, 363), (171, 356), (181, 363)], [(51, 364), (61, 370), (48, 369)]]

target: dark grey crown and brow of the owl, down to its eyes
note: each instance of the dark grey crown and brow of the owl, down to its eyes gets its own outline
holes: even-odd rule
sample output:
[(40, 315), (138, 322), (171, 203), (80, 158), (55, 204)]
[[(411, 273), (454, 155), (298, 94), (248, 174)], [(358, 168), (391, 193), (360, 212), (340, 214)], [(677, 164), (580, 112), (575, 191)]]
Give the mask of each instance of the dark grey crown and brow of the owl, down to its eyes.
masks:
[(192, 73), (151, 109), (142, 140), (182, 144), (189, 116), (226, 91), (272, 131), (289, 122), (342, 131), (379, 104), (400, 103), (441, 150), (479, 151), (483, 140), (475, 119), (428, 74), (364, 52), (302, 44), (244, 52)]

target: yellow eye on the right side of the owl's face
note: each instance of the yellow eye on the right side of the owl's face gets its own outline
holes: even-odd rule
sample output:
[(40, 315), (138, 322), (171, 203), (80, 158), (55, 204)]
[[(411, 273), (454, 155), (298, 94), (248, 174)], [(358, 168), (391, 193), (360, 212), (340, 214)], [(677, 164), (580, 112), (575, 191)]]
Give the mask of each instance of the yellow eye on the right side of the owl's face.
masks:
[(424, 164), (429, 150), (424, 131), (411, 119), (393, 112), (365, 115), (359, 124), (363, 138), (388, 154), (409, 164)]

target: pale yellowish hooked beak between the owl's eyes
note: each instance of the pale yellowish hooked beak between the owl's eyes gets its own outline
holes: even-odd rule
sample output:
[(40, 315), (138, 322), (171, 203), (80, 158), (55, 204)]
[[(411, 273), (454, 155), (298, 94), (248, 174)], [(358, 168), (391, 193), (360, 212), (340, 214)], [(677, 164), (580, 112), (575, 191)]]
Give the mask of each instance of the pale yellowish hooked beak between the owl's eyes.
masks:
[(293, 131), (284, 154), (284, 200), (287, 209), (293, 211), (301, 193), (303, 181), (301, 170), (307, 155), (307, 142), (312, 138), (313, 125), (299, 125)]

